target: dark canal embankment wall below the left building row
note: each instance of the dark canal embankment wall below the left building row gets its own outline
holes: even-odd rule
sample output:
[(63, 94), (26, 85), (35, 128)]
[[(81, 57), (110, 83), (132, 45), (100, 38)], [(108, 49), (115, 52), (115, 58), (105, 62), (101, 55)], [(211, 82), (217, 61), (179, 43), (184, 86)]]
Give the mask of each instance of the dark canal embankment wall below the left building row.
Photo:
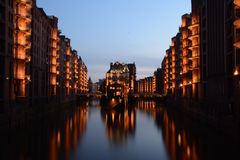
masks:
[(50, 115), (80, 106), (87, 101), (87, 96), (78, 96), (61, 102), (49, 101), (44, 104), (35, 103), (34, 105), (12, 107), (5, 114), (0, 114), (0, 131), (25, 128), (34, 123), (34, 121), (47, 119)]

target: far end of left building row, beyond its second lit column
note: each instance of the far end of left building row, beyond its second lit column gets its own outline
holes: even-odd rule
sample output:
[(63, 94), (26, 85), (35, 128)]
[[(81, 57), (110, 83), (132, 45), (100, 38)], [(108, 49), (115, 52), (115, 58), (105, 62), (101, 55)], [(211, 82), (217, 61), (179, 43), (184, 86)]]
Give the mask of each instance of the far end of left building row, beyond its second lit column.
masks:
[(70, 39), (64, 35), (60, 35), (59, 46), (61, 99), (87, 94), (88, 70), (82, 58), (76, 50), (72, 50)]

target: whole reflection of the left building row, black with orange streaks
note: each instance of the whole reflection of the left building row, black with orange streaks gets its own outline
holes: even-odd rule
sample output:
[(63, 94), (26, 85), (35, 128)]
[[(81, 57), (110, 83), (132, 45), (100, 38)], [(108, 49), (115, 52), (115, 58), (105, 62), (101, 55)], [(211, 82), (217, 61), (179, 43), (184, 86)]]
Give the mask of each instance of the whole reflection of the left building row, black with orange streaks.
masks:
[(24, 129), (0, 135), (1, 160), (70, 159), (87, 126), (86, 105), (54, 113)]

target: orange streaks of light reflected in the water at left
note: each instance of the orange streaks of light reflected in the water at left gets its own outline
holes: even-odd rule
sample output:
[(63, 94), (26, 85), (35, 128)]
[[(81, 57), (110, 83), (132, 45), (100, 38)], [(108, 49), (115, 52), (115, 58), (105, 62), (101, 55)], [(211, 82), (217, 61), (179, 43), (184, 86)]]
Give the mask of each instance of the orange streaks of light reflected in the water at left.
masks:
[[(79, 140), (81, 140), (87, 126), (88, 112), (86, 107), (79, 107), (73, 113), (65, 115), (65, 125), (54, 128), (49, 141), (49, 159), (57, 160), (60, 157), (70, 158), (70, 153), (77, 153)], [(61, 155), (64, 153), (65, 155)]]

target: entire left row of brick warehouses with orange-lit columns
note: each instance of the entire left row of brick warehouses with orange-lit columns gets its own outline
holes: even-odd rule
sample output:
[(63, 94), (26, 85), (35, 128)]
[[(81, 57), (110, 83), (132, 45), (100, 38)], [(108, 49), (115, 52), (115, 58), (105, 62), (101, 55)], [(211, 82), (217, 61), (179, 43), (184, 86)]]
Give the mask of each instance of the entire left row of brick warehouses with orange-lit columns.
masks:
[(61, 37), (58, 18), (36, 0), (0, 2), (0, 114), (86, 94), (88, 71), (80, 59)]

